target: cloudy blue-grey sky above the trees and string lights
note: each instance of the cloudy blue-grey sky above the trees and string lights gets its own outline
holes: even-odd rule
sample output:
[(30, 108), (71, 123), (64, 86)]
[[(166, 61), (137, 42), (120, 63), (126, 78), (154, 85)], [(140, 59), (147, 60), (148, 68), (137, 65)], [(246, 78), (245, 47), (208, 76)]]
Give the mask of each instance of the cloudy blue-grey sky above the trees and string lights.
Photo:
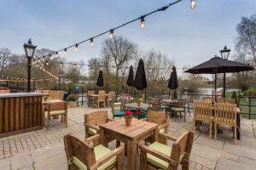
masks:
[[(173, 1), (167, 0), (1, 0), (0, 48), (23, 54), (22, 45), (32, 38), (38, 48), (58, 50), (92, 37), (128, 20), (137, 18)], [(177, 67), (200, 64), (227, 45), (234, 51), (235, 27), (241, 16), (256, 13), (256, 0), (197, 0), (195, 10), (190, 0), (115, 31), (143, 52), (154, 49), (174, 59)], [(108, 35), (68, 51), (67, 60), (85, 63), (99, 57), (102, 41)]]

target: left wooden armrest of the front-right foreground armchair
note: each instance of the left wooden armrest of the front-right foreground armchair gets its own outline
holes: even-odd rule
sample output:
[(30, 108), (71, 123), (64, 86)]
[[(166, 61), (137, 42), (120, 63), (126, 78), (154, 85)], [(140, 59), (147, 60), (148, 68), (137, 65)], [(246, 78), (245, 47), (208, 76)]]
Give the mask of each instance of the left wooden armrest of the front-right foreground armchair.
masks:
[(148, 154), (151, 154), (153, 156), (156, 156), (160, 160), (167, 161), (168, 163), (172, 164), (173, 166), (177, 166), (177, 161), (172, 160), (170, 156), (166, 156), (157, 150), (149, 148), (145, 144), (139, 144), (139, 147), (140, 147), (140, 150), (147, 152)]

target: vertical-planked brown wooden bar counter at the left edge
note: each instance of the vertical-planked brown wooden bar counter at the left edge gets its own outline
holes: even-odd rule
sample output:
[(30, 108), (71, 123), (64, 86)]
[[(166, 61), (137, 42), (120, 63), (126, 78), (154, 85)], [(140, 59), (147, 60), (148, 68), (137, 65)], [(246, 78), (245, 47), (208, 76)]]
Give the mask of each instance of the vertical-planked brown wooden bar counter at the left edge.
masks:
[(0, 138), (43, 127), (42, 94), (0, 94)]

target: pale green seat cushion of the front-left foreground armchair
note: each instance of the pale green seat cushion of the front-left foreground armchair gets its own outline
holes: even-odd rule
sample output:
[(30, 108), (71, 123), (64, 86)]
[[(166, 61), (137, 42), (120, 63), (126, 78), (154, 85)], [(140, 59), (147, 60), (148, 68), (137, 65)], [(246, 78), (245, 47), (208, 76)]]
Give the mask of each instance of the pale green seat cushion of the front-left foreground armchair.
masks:
[[(94, 152), (95, 152), (96, 161), (98, 161), (103, 156), (106, 156), (109, 152), (111, 152), (111, 150), (104, 147), (102, 144), (99, 144), (96, 147), (94, 147)], [(87, 170), (87, 166), (84, 165), (84, 163), (75, 156), (73, 156), (72, 162), (70, 161), (68, 162), (75, 164), (77, 167), (79, 167), (80, 170)], [(109, 166), (113, 165), (115, 162), (116, 162), (116, 157), (113, 157), (111, 160), (104, 163), (101, 167), (98, 167), (97, 170), (104, 170)]]

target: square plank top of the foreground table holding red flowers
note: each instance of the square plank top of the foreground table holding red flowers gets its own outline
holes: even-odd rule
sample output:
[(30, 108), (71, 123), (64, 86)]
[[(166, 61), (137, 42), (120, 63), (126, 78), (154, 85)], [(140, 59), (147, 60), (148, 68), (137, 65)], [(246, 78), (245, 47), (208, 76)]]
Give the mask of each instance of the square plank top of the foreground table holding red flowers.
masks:
[(107, 132), (117, 133), (131, 140), (136, 140), (144, 134), (154, 131), (157, 127), (158, 125), (153, 122), (146, 122), (136, 118), (132, 119), (130, 127), (125, 125), (124, 118), (100, 125), (100, 128)]

